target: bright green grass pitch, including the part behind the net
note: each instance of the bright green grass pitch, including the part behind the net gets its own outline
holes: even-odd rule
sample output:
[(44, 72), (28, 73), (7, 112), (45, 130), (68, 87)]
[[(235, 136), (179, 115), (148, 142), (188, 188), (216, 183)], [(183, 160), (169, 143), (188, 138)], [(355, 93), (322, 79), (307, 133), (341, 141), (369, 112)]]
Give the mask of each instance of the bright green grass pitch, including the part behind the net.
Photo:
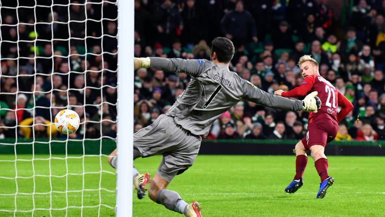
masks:
[[(31, 159), (30, 155), (19, 156)], [(48, 156), (38, 155), (39, 158)], [(63, 157), (63, 156), (60, 156)], [(0, 155), (0, 159), (13, 159), (10, 155)], [(140, 172), (155, 174), (160, 156), (138, 159), (135, 166)], [(202, 204), (203, 216), (382, 216), (385, 207), (385, 158), (384, 157), (329, 157), (329, 174), (335, 184), (328, 189), (326, 197), (315, 199), (319, 176), (309, 159), (304, 174), (304, 185), (294, 194), (284, 193), (284, 188), (294, 176), (294, 156), (198, 156), (193, 167), (176, 176), (169, 189), (179, 192), (190, 202), (198, 200)], [(68, 171), (81, 173), (82, 159), (68, 159)], [(49, 174), (48, 162), (35, 162), (36, 174)], [(64, 160), (52, 160), (54, 175), (66, 174)], [(86, 157), (85, 171), (100, 170), (98, 157)], [(31, 176), (32, 163), (18, 162), (18, 176)], [(15, 177), (15, 164), (0, 162), (0, 176)], [(103, 158), (102, 168), (114, 170)], [(101, 178), (100, 178), (101, 177)], [(114, 175), (109, 173), (86, 174), (84, 187), (98, 189), (115, 188)], [(65, 191), (66, 178), (52, 178), (53, 190)], [(82, 189), (83, 178), (69, 175), (68, 190)], [(33, 192), (32, 179), (18, 179), (19, 192)], [(15, 180), (0, 179), (0, 193), (15, 193)], [(50, 190), (49, 178), (36, 177), (35, 192)], [(69, 206), (81, 206), (81, 192), (68, 193)], [(83, 205), (102, 203), (114, 206), (114, 193), (101, 190), (84, 191)], [(15, 196), (0, 196), (0, 209), (15, 208)], [(18, 209), (32, 209), (32, 196), (19, 195)], [(53, 207), (66, 206), (65, 194), (53, 193)], [(35, 195), (36, 208), (49, 208), (49, 195)], [(114, 216), (110, 208), (101, 207), (101, 216)], [(84, 208), (84, 216), (97, 216), (98, 208)], [(152, 202), (148, 197), (133, 199), (133, 216), (182, 216)], [(66, 211), (52, 211), (53, 216), (65, 216)], [(80, 209), (69, 208), (68, 216), (79, 216)], [(0, 212), (0, 216), (14, 216)], [(31, 216), (18, 212), (16, 216)], [(45, 210), (35, 211), (34, 216), (49, 216)]]

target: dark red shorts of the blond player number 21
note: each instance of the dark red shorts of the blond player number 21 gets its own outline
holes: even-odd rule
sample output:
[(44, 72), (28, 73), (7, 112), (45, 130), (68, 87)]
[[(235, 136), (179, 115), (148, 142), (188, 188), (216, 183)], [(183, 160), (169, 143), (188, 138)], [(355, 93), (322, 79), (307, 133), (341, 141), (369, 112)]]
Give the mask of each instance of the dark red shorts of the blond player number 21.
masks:
[(338, 125), (330, 119), (320, 119), (307, 126), (306, 137), (301, 141), (306, 150), (310, 150), (313, 145), (326, 146), (334, 140), (338, 132)]

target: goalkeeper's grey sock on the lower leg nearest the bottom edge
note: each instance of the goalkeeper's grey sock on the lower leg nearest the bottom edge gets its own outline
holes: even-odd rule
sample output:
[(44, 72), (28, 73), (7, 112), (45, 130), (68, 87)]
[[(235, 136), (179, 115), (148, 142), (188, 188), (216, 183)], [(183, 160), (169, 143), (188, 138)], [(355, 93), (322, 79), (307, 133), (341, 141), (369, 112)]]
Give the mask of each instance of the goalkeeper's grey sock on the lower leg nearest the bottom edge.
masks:
[(175, 191), (161, 189), (156, 196), (156, 202), (163, 204), (166, 208), (184, 214), (187, 203), (180, 198)]

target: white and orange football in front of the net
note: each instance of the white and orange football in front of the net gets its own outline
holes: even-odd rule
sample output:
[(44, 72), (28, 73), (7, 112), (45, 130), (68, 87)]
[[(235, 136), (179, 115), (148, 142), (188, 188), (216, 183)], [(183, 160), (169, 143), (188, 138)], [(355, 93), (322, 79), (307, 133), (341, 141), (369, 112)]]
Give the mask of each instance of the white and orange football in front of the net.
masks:
[(72, 134), (79, 129), (79, 115), (72, 110), (62, 110), (55, 117), (55, 127), (62, 134)]

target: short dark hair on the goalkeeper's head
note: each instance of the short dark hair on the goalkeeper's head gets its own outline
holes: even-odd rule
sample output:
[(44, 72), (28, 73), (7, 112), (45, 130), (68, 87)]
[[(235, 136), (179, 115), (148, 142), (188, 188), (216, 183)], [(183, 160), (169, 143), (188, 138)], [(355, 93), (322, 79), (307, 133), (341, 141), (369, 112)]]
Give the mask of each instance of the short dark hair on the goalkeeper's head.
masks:
[(219, 62), (228, 63), (233, 59), (234, 55), (234, 44), (227, 38), (217, 37), (211, 44), (211, 53), (217, 54)]

